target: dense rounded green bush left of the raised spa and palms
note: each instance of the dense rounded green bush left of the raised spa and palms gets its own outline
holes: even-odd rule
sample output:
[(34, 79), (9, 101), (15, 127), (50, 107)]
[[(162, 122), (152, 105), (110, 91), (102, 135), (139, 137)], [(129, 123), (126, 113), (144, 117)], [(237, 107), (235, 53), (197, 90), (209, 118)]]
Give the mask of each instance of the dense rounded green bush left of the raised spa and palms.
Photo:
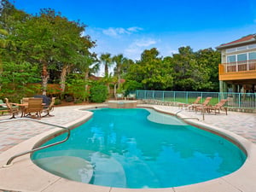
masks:
[(108, 88), (104, 84), (95, 83), (90, 87), (90, 102), (105, 102), (108, 98)]

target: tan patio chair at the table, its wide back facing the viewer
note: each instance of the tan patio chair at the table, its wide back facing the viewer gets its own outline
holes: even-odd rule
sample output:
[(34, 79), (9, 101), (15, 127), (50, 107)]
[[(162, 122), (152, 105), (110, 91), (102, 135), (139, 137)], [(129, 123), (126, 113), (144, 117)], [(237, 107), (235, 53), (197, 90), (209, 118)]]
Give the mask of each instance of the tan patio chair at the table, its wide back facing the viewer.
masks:
[(25, 109), (25, 115), (37, 115), (41, 118), (41, 113), (43, 111), (43, 99), (42, 98), (29, 98), (27, 108)]

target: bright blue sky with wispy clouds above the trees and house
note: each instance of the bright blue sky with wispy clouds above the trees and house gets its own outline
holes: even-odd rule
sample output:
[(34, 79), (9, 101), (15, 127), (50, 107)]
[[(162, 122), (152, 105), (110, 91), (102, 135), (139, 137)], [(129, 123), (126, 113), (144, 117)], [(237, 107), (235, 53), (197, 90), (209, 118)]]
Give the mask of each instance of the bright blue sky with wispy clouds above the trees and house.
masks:
[[(14, 0), (10, 1), (14, 3)], [(160, 55), (189, 45), (213, 48), (256, 33), (256, 0), (15, 0), (29, 14), (51, 8), (87, 25), (97, 54), (139, 60), (144, 49)]]

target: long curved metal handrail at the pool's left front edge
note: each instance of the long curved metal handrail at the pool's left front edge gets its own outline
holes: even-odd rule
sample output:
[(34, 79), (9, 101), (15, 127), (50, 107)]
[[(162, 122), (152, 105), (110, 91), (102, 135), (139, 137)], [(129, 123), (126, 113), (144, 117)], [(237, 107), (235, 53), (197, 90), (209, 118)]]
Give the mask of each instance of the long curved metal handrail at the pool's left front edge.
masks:
[[(9, 160), (7, 161), (6, 163), (6, 166), (9, 166), (11, 165), (11, 162), (13, 160), (15, 160), (17, 157), (20, 157), (22, 155), (25, 155), (25, 154), (32, 154), (33, 152), (36, 152), (38, 150), (41, 150), (41, 149), (44, 149), (44, 148), (49, 148), (49, 147), (52, 147), (52, 146), (55, 146), (57, 144), (61, 144), (61, 143), (64, 143), (68, 140), (68, 138), (70, 137), (70, 130), (67, 128), (67, 127), (64, 127), (64, 126), (61, 126), (61, 125), (54, 125), (54, 124), (49, 124), (49, 123), (46, 123), (46, 122), (43, 122), (43, 121), (39, 121), (37, 119), (29, 119), (29, 118), (23, 118), (22, 120), (32, 120), (32, 121), (35, 121), (37, 123), (40, 123), (40, 124), (44, 124), (44, 125), (51, 125), (51, 126), (55, 126), (55, 127), (59, 127), (61, 129), (64, 129), (65, 131), (67, 131), (67, 137), (64, 139), (64, 140), (61, 140), (60, 142), (56, 142), (56, 143), (52, 143), (52, 144), (49, 144), (49, 145), (46, 145), (46, 146), (43, 146), (43, 147), (39, 147), (39, 148), (33, 148), (32, 150), (28, 150), (28, 151), (25, 151), (25, 152), (22, 152), (20, 154), (15, 154), (14, 156), (10, 157)], [(4, 122), (9, 122), (9, 121), (15, 121), (15, 120), (20, 120), (20, 119), (9, 119), (9, 120), (1, 120), (0, 123), (4, 123)]]

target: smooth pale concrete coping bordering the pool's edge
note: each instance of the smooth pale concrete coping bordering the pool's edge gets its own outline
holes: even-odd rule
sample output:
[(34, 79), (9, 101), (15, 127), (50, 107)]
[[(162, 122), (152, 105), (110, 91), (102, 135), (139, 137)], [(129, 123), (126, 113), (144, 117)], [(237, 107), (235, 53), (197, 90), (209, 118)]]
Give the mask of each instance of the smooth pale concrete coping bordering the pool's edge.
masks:
[[(102, 106), (101, 106), (102, 107)], [(142, 108), (153, 108), (161, 113), (170, 113), (157, 106), (141, 105), (138, 107)], [(88, 109), (90, 107), (79, 107), (73, 110)], [(170, 113), (175, 115), (174, 113)], [(84, 118), (77, 119), (74, 122), (70, 122), (66, 126), (76, 126), (86, 120), (90, 119), (90, 113), (84, 115)], [(177, 114), (179, 118), (188, 118), (183, 114)], [(49, 172), (45, 172), (38, 166), (32, 163), (30, 155), (26, 154), (20, 158), (14, 160), (12, 166), (3, 168), (6, 161), (14, 154), (26, 151), (33, 148), (39, 141), (42, 141), (44, 137), (49, 135), (55, 135), (56, 132), (61, 131), (60, 128), (56, 128), (47, 132), (44, 132), (36, 137), (26, 140), (23, 143), (16, 145), (13, 148), (0, 154), (0, 190), (9, 189), (15, 191), (38, 191), (38, 192), (49, 192), (49, 191), (94, 191), (94, 192), (253, 192), (256, 189), (256, 145), (249, 142), (247, 139), (236, 135), (233, 132), (225, 131), (218, 127), (207, 125), (199, 122), (195, 119), (183, 119), (185, 122), (214, 131), (215, 133), (221, 134), (224, 137), (232, 139), (241, 148), (244, 148), (247, 152), (247, 160), (244, 165), (241, 166), (236, 172), (233, 172), (224, 177), (218, 177), (216, 179), (209, 180), (203, 183), (195, 183), (185, 185), (181, 187), (173, 187), (166, 189), (119, 189), (112, 187), (96, 186), (87, 183), (79, 183), (68, 180), (66, 178), (55, 176)], [(189, 142), (189, 141), (188, 141)]]

